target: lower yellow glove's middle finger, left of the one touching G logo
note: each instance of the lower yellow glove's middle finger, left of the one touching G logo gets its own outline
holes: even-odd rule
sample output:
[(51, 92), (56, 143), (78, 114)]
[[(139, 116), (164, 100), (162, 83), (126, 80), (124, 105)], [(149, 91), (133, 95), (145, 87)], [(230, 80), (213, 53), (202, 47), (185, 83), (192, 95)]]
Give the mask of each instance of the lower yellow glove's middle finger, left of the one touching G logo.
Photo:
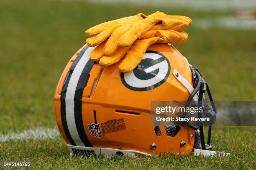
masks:
[(113, 65), (119, 60), (121, 60), (125, 54), (130, 50), (131, 47), (118, 47), (118, 50), (115, 52), (114, 55), (106, 56), (100, 58), (100, 65), (108, 66)]

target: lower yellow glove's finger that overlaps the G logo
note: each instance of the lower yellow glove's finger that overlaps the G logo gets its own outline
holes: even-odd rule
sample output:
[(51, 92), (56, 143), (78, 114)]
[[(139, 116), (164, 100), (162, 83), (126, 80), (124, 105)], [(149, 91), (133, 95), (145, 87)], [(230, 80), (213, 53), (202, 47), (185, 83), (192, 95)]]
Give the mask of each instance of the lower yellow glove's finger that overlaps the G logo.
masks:
[(151, 44), (156, 43), (159, 37), (152, 37), (145, 40), (137, 40), (131, 50), (119, 65), (121, 72), (130, 72), (141, 62), (143, 55)]

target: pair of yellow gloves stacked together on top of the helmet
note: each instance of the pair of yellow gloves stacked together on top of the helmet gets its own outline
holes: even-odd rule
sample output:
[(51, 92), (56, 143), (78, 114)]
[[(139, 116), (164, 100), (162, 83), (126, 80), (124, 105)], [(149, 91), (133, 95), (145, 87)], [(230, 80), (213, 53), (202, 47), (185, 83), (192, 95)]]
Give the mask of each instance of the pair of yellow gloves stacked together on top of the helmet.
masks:
[(87, 35), (98, 33), (86, 40), (89, 46), (98, 45), (90, 57), (108, 66), (121, 60), (128, 52), (119, 67), (122, 72), (132, 71), (151, 44), (185, 42), (188, 35), (180, 30), (191, 22), (188, 17), (156, 12), (148, 16), (140, 13), (96, 25), (85, 32)]

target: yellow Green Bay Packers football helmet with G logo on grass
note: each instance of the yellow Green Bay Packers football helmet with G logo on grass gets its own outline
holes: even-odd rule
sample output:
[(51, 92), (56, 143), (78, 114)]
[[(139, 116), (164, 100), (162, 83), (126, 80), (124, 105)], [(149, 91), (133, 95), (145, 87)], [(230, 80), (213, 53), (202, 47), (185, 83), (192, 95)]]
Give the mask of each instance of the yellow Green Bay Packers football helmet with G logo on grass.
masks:
[[(152, 125), (151, 101), (205, 100), (216, 113), (199, 71), (172, 45), (148, 47), (132, 72), (90, 60), (95, 47), (84, 45), (69, 60), (54, 94), (59, 132), (72, 154), (110, 156), (188, 154), (210, 149), (202, 126)], [(200, 102), (202, 104), (202, 102)], [(209, 111), (209, 112), (210, 112)]]

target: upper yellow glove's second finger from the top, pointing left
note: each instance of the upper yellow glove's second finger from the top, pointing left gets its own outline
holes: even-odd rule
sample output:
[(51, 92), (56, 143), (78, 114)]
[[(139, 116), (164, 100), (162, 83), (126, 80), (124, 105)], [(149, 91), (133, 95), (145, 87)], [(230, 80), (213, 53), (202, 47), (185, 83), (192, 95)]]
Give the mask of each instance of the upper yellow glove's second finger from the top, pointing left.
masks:
[(118, 26), (120, 26), (120, 25), (113, 25), (113, 26), (107, 28), (106, 30), (103, 30), (98, 35), (95, 35), (93, 37), (87, 38), (86, 39), (87, 45), (89, 45), (90, 47), (95, 47), (96, 45), (99, 45), (101, 42), (103, 42), (108, 37), (110, 37), (110, 35), (113, 32), (113, 30), (116, 27), (118, 27)]

